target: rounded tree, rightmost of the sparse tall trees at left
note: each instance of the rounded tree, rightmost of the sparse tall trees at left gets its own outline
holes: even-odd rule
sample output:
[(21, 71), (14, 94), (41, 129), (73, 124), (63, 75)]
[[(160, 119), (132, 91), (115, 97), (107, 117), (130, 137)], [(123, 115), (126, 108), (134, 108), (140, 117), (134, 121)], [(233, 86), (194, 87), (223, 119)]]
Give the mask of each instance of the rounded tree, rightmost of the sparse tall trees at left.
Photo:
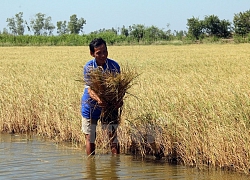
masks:
[(83, 18), (78, 19), (76, 14), (70, 16), (68, 22), (68, 31), (70, 34), (79, 34), (83, 30), (83, 26), (86, 24), (86, 20)]

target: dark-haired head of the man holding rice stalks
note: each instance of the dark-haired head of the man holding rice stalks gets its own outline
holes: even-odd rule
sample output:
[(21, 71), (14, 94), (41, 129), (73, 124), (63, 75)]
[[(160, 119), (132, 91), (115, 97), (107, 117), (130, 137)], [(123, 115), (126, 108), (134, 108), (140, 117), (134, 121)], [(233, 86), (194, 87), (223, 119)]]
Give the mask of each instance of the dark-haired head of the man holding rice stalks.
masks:
[(90, 55), (96, 59), (98, 66), (105, 64), (108, 57), (106, 42), (102, 38), (96, 38), (89, 44)]

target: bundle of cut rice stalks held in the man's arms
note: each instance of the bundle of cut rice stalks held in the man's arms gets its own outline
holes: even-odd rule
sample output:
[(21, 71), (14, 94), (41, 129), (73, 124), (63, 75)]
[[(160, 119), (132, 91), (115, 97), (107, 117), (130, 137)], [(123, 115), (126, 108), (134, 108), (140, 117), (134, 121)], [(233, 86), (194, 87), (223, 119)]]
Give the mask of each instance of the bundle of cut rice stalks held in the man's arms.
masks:
[(118, 73), (104, 71), (102, 67), (98, 67), (92, 69), (88, 76), (86, 84), (106, 104), (102, 107), (101, 121), (119, 124), (122, 106), (118, 106), (122, 104), (125, 94), (132, 87), (132, 81), (138, 74), (130, 68), (123, 68), (121, 73)]

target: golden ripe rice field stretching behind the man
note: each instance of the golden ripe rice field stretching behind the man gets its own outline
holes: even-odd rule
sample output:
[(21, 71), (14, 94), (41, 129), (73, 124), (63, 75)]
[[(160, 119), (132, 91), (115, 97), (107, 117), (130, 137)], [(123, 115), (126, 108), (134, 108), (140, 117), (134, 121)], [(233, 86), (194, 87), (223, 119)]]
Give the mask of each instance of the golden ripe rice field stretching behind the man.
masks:
[[(143, 154), (151, 145), (170, 161), (248, 174), (249, 49), (250, 44), (110, 46), (110, 58), (140, 73), (125, 98), (122, 149)], [(88, 47), (1, 47), (1, 131), (83, 145), (83, 84), (76, 80), (90, 58)], [(97, 141), (100, 153), (106, 152), (105, 138), (99, 134)]]

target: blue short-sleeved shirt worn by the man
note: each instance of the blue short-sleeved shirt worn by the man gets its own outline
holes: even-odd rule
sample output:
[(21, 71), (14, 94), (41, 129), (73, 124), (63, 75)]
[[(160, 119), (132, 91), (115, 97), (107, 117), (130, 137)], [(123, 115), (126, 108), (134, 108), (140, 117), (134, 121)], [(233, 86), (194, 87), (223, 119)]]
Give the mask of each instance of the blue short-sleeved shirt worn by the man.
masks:
[[(85, 82), (88, 81), (88, 72), (97, 68), (96, 60), (92, 59), (87, 62), (83, 68), (83, 75)], [(120, 73), (120, 66), (117, 62), (112, 59), (107, 59), (106, 63), (102, 66), (104, 71), (117, 72)], [(81, 113), (82, 116), (87, 119), (99, 119), (101, 115), (101, 108), (97, 105), (97, 102), (93, 100), (88, 93), (88, 86), (85, 85), (84, 92), (81, 100)]]

